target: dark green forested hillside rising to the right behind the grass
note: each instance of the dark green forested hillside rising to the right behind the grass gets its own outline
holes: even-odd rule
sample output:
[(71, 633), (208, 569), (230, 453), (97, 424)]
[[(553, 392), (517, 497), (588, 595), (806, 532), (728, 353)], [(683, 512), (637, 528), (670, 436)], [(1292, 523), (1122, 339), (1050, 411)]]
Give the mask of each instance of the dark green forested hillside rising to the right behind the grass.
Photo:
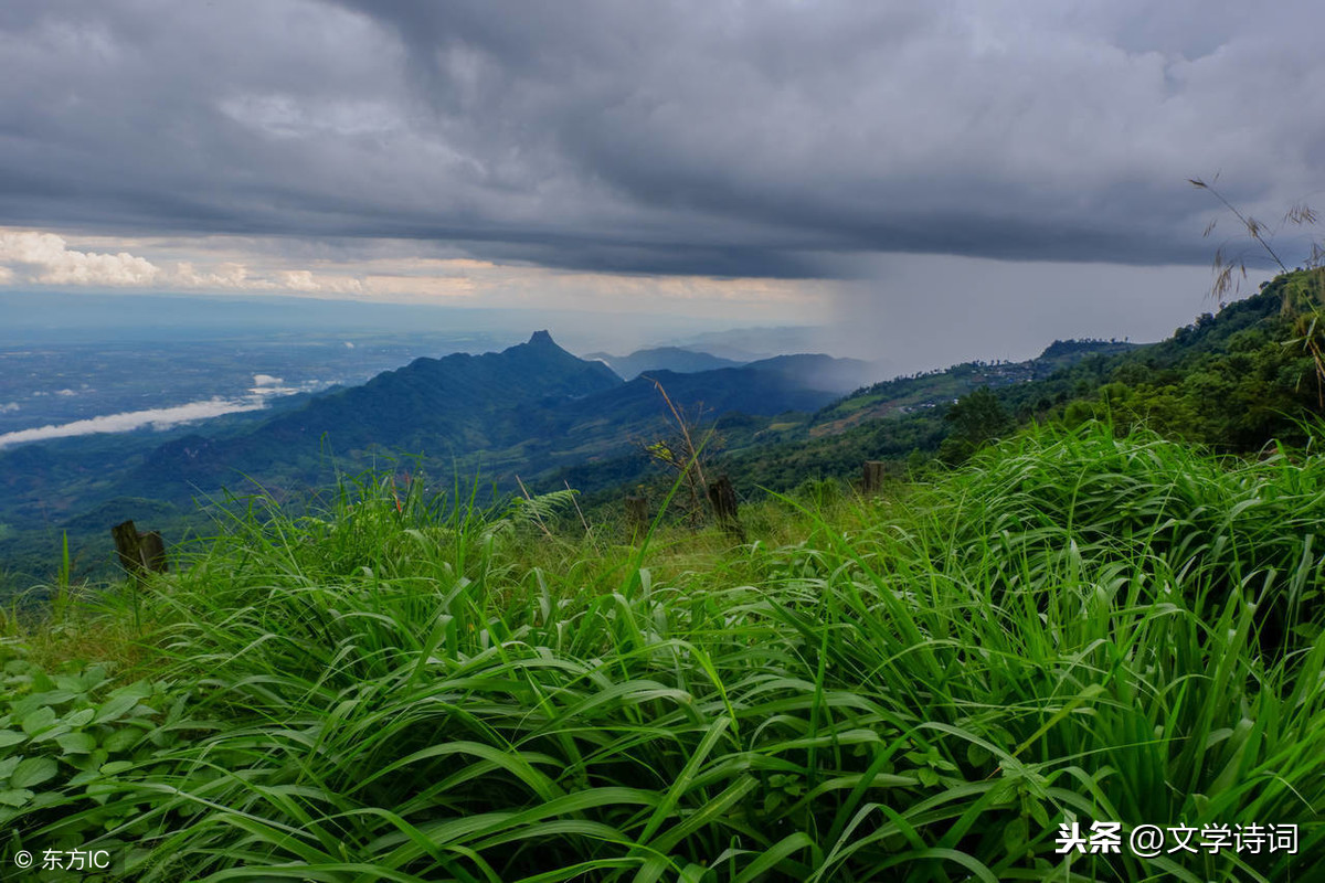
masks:
[[(1155, 344), (1059, 342), (1031, 363), (969, 363), (874, 384), (772, 443), (734, 446), (726, 466), (746, 492), (786, 491), (807, 479), (855, 478), (867, 459), (889, 462), (898, 475), (935, 458), (959, 463), (1016, 426), (1096, 418), (1118, 433), (1145, 426), (1235, 454), (1275, 440), (1305, 445), (1302, 421), (1325, 414), (1301, 327), (1318, 308), (1318, 271), (1281, 275)], [(1285, 310), (1304, 298), (1298, 312)], [(953, 404), (979, 389), (996, 408), (966, 437), (950, 418)]]

